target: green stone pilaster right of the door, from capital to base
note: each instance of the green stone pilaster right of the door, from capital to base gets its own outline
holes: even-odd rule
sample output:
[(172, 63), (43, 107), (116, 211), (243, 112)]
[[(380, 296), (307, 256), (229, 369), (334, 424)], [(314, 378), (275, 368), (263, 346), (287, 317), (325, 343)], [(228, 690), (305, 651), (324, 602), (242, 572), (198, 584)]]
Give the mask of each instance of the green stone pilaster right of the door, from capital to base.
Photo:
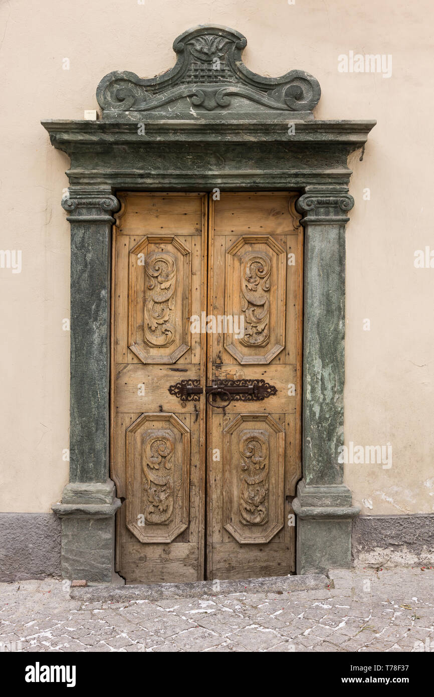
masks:
[(343, 485), (345, 225), (348, 189), (307, 187), (304, 213), (303, 479), (297, 514), (297, 573), (351, 565), (351, 492)]

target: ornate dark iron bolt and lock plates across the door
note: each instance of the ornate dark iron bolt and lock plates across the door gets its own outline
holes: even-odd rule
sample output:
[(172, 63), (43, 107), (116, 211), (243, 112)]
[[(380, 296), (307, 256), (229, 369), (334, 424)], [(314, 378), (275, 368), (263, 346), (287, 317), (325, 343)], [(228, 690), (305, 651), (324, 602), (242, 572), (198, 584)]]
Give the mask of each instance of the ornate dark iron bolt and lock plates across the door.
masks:
[[(199, 401), (203, 394), (200, 380), (181, 380), (170, 385), (169, 392), (181, 401)], [(205, 392), (208, 404), (224, 408), (231, 401), (259, 401), (266, 397), (277, 395), (277, 388), (265, 380), (222, 380), (216, 378), (212, 385), (206, 385)], [(210, 397), (209, 397), (210, 395)], [(227, 404), (215, 404), (216, 397), (227, 400)], [(212, 400), (212, 401), (210, 401)]]

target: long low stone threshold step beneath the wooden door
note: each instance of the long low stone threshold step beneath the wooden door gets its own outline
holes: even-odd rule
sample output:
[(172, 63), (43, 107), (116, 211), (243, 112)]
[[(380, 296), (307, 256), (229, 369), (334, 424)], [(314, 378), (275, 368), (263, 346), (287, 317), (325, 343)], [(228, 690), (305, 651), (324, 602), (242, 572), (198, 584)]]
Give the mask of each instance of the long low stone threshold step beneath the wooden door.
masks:
[(298, 590), (320, 590), (330, 585), (324, 574), (302, 576), (271, 576), (267, 579), (242, 581), (193, 581), (191, 583), (146, 583), (137, 585), (92, 585), (71, 588), (70, 597), (82, 602), (127, 602), (162, 598), (194, 598), (203, 595), (231, 593), (283, 593)]

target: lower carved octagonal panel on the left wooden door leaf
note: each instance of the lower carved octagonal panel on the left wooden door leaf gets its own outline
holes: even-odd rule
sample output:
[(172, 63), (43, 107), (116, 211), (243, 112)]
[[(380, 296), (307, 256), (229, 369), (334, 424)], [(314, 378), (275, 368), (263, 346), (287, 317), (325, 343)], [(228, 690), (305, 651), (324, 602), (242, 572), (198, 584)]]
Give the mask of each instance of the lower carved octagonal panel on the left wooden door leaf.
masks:
[(127, 527), (141, 542), (171, 542), (188, 526), (189, 435), (171, 413), (126, 430)]

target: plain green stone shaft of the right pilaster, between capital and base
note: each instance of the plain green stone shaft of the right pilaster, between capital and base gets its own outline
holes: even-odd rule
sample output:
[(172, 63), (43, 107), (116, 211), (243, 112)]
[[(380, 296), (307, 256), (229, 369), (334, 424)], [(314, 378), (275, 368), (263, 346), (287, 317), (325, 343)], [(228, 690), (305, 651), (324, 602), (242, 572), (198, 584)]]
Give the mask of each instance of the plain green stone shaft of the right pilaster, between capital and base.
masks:
[(307, 225), (304, 261), (303, 472), (309, 484), (341, 484), (345, 339), (343, 225)]

